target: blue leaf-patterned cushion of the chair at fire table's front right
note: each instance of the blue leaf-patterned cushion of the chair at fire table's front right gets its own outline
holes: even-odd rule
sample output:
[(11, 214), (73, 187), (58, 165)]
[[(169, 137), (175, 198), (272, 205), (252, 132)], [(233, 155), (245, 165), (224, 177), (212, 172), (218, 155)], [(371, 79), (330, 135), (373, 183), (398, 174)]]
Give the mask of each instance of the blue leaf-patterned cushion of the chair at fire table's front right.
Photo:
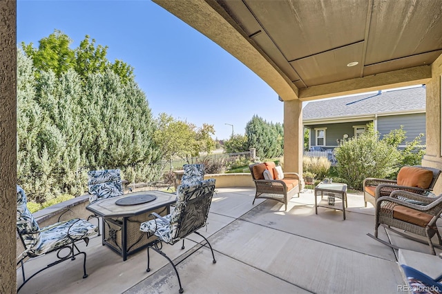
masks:
[[(202, 189), (200, 189), (202, 188)], [(144, 222), (140, 226), (140, 230), (155, 234), (162, 241), (175, 244), (180, 238), (177, 238), (181, 213), (186, 206), (186, 202), (206, 193), (213, 193), (215, 190), (215, 179), (206, 179), (204, 181), (194, 182), (193, 184), (182, 184), (177, 188), (177, 202), (175, 209), (169, 215), (164, 216), (167, 222), (162, 219), (152, 219)], [(188, 212), (196, 215), (195, 212)]]

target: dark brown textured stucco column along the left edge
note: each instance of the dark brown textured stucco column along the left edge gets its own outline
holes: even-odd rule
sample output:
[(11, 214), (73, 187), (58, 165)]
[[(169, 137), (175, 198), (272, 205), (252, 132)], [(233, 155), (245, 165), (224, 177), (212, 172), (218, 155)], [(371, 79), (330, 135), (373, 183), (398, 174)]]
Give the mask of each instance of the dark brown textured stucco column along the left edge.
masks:
[(0, 293), (16, 293), (17, 3), (0, 1)]

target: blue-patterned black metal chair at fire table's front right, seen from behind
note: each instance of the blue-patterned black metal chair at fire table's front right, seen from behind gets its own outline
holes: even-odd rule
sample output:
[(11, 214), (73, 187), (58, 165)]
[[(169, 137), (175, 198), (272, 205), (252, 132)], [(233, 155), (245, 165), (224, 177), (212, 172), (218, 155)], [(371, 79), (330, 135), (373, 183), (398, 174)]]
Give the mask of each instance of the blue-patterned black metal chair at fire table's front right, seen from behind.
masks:
[(160, 253), (164, 256), (170, 264), (172, 264), (173, 269), (178, 278), (178, 284), (180, 284), (180, 293), (183, 293), (183, 288), (181, 285), (180, 275), (176, 266), (182, 262), (177, 262), (174, 264), (172, 260), (164, 253), (162, 249), (162, 242), (167, 244), (175, 244), (182, 239), (182, 249), (184, 249), (184, 238), (195, 233), (200, 235), (204, 240), (204, 244), (199, 244), (195, 251), (192, 251), (189, 255), (198, 251), (198, 249), (203, 246), (209, 245), (212, 252), (213, 263), (216, 263), (215, 255), (213, 254), (213, 249), (209, 241), (198, 233), (198, 229), (206, 226), (206, 219), (209, 215), (209, 208), (211, 200), (213, 197), (213, 192), (215, 191), (215, 179), (206, 179), (199, 182), (193, 182), (191, 184), (182, 184), (177, 188), (177, 202), (175, 209), (169, 215), (164, 217), (158, 215), (157, 213), (152, 213), (155, 219), (151, 219), (148, 222), (144, 222), (140, 226), (140, 230), (146, 232), (148, 237), (155, 235), (158, 239), (153, 245), (147, 247), (147, 269), (146, 271), (151, 271), (150, 268), (150, 255), (149, 249)]

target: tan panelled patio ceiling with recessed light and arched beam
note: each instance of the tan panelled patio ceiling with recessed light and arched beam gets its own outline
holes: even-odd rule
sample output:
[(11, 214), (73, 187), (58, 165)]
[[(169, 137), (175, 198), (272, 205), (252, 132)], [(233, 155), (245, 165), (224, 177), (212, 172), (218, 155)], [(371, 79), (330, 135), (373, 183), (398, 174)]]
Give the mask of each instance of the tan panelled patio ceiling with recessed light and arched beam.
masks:
[[(423, 84), (442, 54), (441, 0), (154, 1), (231, 52), (285, 101)], [(242, 40), (232, 30), (227, 35), (225, 23)], [(242, 41), (294, 95), (257, 66), (262, 59), (240, 53), (247, 51)]]

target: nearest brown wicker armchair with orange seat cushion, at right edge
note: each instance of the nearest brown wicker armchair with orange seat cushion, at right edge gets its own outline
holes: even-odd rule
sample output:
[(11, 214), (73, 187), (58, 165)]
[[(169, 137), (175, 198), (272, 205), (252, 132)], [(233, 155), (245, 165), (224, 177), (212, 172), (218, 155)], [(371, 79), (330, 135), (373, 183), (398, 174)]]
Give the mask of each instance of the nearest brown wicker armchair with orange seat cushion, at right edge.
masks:
[[(434, 247), (441, 248), (442, 245), (441, 235), (436, 226), (436, 221), (441, 213), (442, 194), (437, 197), (426, 197), (404, 190), (394, 190), (390, 196), (380, 197), (376, 200), (374, 235), (367, 235), (387, 246), (399, 249), (398, 246), (378, 238), (378, 227), (383, 225), (398, 235), (416, 242), (428, 244), (430, 246), (430, 253), (436, 255)], [(400, 231), (392, 227), (398, 228)], [(422, 239), (403, 232), (425, 237), (427, 241), (424, 242)], [(439, 246), (432, 243), (434, 235), (437, 235), (439, 239)]]

